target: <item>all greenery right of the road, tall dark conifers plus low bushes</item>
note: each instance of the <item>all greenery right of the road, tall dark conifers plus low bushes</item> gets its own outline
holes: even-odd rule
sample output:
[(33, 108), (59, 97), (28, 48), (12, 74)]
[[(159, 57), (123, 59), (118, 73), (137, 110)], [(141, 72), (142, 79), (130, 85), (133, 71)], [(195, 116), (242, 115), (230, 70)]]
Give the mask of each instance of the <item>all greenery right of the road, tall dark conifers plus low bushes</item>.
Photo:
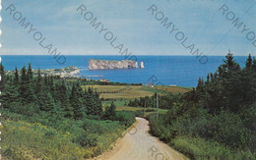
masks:
[(256, 159), (256, 59), (250, 55), (241, 68), (228, 53), (216, 73), (168, 108), (159, 119), (149, 117), (151, 133), (189, 158)]

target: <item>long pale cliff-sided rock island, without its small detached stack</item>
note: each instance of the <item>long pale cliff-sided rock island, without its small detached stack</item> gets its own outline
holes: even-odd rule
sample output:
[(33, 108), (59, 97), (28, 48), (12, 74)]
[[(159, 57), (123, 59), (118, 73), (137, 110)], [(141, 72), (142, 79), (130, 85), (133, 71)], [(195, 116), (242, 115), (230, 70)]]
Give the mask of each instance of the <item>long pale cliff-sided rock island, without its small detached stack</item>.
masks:
[(106, 61), (106, 60), (89, 60), (90, 70), (110, 70), (110, 69), (137, 69), (138, 62), (131, 60)]

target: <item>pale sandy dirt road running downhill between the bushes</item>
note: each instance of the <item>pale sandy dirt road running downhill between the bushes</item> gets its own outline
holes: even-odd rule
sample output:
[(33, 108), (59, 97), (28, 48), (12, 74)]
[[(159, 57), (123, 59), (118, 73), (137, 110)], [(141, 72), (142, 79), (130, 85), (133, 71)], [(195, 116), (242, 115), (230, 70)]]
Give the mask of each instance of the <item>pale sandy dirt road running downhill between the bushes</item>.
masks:
[(149, 133), (149, 122), (136, 118), (136, 124), (123, 138), (117, 140), (113, 150), (94, 160), (180, 160), (183, 155)]

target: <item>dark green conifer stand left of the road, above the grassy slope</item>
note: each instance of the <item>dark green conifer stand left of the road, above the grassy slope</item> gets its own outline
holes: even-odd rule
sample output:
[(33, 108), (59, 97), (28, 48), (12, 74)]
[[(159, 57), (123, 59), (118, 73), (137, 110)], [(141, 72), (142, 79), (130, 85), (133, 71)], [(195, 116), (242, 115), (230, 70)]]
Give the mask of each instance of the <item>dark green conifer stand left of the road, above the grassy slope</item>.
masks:
[(32, 116), (44, 113), (47, 116), (60, 116), (79, 120), (87, 116), (103, 115), (99, 94), (93, 88), (83, 89), (80, 80), (59, 80), (54, 76), (32, 74), (29, 64), (14, 75), (7, 75), (0, 65), (1, 103), (11, 112)]

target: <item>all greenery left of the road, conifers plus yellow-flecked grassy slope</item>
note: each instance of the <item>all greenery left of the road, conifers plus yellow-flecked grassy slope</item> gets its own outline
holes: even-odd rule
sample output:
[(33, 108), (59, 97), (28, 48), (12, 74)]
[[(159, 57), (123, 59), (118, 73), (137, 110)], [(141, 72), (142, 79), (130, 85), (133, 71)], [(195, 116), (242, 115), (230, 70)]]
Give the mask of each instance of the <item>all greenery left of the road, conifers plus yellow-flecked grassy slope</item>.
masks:
[[(32, 75), (32, 66), (1, 72), (2, 159), (85, 159), (108, 149), (135, 122), (131, 112), (102, 109), (85, 79)], [(92, 82), (92, 81), (90, 81)]]

